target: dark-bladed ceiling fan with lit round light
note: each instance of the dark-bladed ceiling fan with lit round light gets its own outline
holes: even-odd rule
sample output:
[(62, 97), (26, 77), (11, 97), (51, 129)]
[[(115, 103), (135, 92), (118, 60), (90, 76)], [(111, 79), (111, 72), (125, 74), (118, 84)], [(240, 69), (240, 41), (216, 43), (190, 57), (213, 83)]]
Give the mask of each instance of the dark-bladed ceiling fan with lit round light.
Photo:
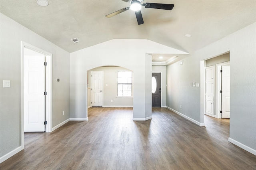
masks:
[(145, 6), (145, 8), (155, 8), (155, 9), (161, 9), (161, 10), (172, 10), (172, 8), (174, 7), (173, 4), (157, 4), (157, 3), (146, 3), (146, 4), (141, 4), (140, 2), (144, 1), (144, 0), (122, 0), (124, 2), (130, 2), (131, 5), (123, 8), (121, 10), (118, 10), (116, 12), (113, 12), (111, 14), (106, 15), (106, 17), (110, 18), (112, 16), (115, 16), (117, 14), (120, 14), (124, 11), (127, 11), (129, 9), (135, 11), (135, 15), (137, 18), (137, 22), (138, 25), (140, 24), (144, 24), (143, 18), (142, 18), (142, 14), (140, 12), (140, 9), (142, 6)]

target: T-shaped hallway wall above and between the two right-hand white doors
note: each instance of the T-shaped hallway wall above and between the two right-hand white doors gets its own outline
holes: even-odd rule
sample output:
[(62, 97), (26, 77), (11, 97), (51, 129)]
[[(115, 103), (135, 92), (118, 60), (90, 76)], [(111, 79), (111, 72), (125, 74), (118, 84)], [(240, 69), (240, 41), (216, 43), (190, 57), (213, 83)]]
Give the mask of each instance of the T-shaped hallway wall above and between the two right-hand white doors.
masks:
[(219, 63), (224, 63), (224, 62), (227, 62), (227, 61), (230, 61), (229, 59), (229, 53), (226, 53), (226, 54), (223, 54), (223, 55), (220, 55), (220, 56), (217, 56), (217, 57), (213, 57), (211, 59), (207, 59), (205, 61), (206, 63), (206, 67), (208, 66), (212, 66), (214, 65), (215, 66), (215, 73), (214, 73), (214, 115), (216, 116), (216, 111), (217, 111), (217, 103), (216, 103), (216, 97), (217, 97), (217, 93), (219, 93), (217, 91), (217, 64)]

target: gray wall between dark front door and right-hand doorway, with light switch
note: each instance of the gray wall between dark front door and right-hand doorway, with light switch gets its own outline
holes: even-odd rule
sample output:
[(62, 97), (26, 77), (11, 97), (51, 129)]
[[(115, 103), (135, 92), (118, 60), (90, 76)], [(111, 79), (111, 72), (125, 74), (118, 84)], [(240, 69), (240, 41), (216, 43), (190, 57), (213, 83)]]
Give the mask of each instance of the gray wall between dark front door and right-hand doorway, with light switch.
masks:
[(166, 67), (166, 106), (200, 122), (200, 87), (193, 87), (200, 83), (200, 61), (187, 57), (179, 62)]

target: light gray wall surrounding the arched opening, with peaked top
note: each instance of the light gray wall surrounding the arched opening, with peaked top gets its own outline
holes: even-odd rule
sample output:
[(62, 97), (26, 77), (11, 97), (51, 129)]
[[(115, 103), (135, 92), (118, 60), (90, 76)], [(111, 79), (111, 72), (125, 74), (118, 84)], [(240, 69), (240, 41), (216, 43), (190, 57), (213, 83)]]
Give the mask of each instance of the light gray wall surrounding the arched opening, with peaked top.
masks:
[(87, 71), (104, 65), (116, 65), (133, 71), (133, 118), (150, 119), (152, 56), (148, 53), (160, 51), (184, 53), (150, 40), (137, 39), (114, 39), (70, 53), (70, 116), (87, 116)]

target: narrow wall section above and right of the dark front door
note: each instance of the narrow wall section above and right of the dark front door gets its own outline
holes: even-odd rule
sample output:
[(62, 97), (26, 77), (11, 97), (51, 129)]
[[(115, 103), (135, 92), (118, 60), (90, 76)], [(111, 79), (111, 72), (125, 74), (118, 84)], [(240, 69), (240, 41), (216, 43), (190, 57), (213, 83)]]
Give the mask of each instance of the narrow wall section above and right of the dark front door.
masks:
[(152, 66), (152, 72), (162, 72), (162, 107), (166, 106), (166, 66)]

